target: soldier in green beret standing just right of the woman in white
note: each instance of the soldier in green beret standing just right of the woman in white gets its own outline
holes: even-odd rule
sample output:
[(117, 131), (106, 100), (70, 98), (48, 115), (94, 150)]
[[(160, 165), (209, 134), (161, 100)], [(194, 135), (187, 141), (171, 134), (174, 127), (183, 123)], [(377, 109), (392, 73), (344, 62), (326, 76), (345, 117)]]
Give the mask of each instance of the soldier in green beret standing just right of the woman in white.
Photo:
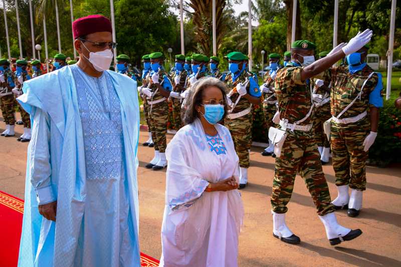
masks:
[(248, 57), (232, 52), (229, 59), (230, 75), (226, 77), (228, 104), (231, 106), (225, 125), (233, 137), (235, 150), (240, 158), (240, 189), (248, 184), (249, 150), (252, 144), (252, 105), (259, 105), (261, 92), (253, 74), (246, 71)]

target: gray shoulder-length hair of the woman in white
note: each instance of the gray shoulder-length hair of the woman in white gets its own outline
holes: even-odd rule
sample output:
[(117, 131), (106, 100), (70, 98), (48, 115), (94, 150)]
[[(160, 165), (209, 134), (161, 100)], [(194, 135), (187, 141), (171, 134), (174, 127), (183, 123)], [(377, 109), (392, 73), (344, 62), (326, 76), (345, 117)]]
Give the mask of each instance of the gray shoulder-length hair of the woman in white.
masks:
[(226, 118), (226, 115), (228, 112), (228, 106), (227, 106), (227, 101), (226, 101), (226, 97), (227, 97), (226, 84), (214, 77), (204, 77), (204, 78), (199, 79), (197, 82), (195, 82), (190, 88), (186, 89), (186, 90), (189, 90), (189, 92), (184, 100), (185, 102), (184, 102), (184, 107), (182, 110), (183, 121), (185, 124), (192, 123), (198, 117), (198, 112), (196, 111), (196, 106), (202, 104), (204, 90), (206, 88), (213, 87), (213, 86), (219, 88), (223, 94), (224, 115), (223, 115), (222, 120), (224, 120), (224, 118)]

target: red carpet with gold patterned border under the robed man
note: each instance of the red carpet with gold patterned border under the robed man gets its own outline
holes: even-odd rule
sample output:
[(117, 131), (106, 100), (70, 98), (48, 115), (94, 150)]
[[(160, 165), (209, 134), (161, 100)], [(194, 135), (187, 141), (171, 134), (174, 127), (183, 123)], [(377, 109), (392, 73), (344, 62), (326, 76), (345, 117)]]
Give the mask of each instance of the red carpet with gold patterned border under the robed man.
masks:
[[(15, 267), (18, 262), (24, 200), (0, 191), (0, 265)], [(159, 261), (141, 252), (141, 266), (155, 267)]]

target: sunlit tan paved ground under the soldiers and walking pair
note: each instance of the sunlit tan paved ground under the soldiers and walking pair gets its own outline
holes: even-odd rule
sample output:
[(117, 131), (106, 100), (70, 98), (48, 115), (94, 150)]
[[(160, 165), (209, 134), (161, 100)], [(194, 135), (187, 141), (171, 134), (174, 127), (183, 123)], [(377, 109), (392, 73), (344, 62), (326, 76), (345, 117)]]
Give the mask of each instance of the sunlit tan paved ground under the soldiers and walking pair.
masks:
[[(0, 130), (5, 124), (0, 118)], [(22, 127), (17, 126), (18, 133)], [(169, 139), (171, 136), (168, 137)], [(0, 138), (0, 190), (24, 198), (27, 143), (16, 138)], [(140, 133), (140, 142), (147, 133)], [(240, 235), (240, 266), (401, 266), (401, 166), (385, 169), (367, 168), (368, 190), (358, 218), (337, 212), (344, 226), (361, 228), (356, 240), (331, 247), (312, 199), (302, 179), (297, 176), (287, 224), (301, 237), (300, 245), (288, 245), (272, 236), (269, 196), (272, 190), (274, 159), (262, 157), (253, 147), (250, 185), (242, 191), (245, 226)], [(160, 256), (160, 228), (163, 215), (165, 172), (150, 171), (144, 165), (152, 158), (151, 148), (139, 148), (139, 201), (141, 250)], [(336, 195), (331, 165), (323, 167), (332, 198)]]

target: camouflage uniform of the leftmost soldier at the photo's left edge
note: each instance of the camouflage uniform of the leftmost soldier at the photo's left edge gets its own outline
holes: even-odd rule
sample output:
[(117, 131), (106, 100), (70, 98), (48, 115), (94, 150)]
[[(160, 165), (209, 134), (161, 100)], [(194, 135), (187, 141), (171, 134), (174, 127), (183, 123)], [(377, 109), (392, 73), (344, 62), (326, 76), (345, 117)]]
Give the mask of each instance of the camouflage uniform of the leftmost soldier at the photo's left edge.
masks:
[[(15, 84), (14, 84), (14, 74), (10, 68), (4, 72), (4, 79), (5, 79), (4, 83), (5, 87), (10, 86), (11, 88), (7, 89), (7, 95), (0, 96), (0, 108), (2, 109), (4, 122), (8, 125), (14, 125), (16, 123), (16, 117), (15, 117), (16, 100), (11, 90), (13, 89)], [(6, 89), (0, 88), (0, 93), (6, 94)]]

